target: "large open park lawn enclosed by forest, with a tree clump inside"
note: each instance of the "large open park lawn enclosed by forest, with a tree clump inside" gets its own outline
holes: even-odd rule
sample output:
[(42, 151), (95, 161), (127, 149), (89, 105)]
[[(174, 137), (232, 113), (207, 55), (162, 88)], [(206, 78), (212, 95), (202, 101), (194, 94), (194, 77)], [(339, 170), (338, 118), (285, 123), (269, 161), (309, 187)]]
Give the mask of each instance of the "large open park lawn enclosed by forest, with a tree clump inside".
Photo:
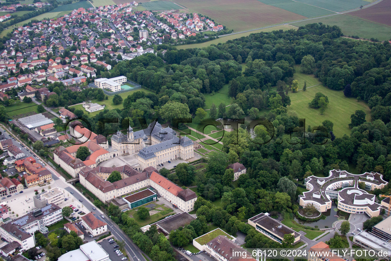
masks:
[[(321, 92), (328, 97), (329, 104), (323, 115), (319, 109), (308, 107), (308, 103), (312, 101), (317, 92)], [(324, 85), (318, 85), (308, 88), (307, 91), (298, 91), (289, 93), (291, 98), (291, 106), (288, 110), (295, 111), (299, 118), (305, 119), (306, 129), (308, 125), (319, 126), (325, 120), (330, 120), (334, 123), (333, 132), (336, 137), (342, 137), (344, 134), (350, 135), (348, 124), (350, 115), (356, 110), (363, 110), (366, 113), (366, 120), (371, 121), (371, 110), (363, 101), (351, 97), (345, 97), (342, 91), (332, 90)]]

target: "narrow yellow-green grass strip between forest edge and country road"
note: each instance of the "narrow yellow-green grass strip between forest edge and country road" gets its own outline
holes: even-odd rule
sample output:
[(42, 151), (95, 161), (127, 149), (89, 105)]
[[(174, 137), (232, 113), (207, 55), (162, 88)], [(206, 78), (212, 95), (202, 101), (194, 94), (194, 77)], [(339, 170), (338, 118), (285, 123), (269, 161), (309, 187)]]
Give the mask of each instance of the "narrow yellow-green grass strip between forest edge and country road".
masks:
[(230, 34), (230, 35), (223, 36), (223, 37), (220, 37), (220, 38), (217, 38), (217, 39), (214, 39), (214, 40), (206, 41), (204, 43), (193, 43), (193, 44), (188, 44), (188, 45), (178, 45), (176, 48), (177, 49), (203, 48), (203, 47), (208, 47), (211, 44), (217, 45), (218, 43), (225, 43), (228, 40), (238, 39), (240, 37), (249, 36), (250, 34), (255, 34), (255, 33), (258, 33), (258, 32), (271, 32), (271, 31), (276, 31), (276, 30), (289, 30), (289, 29), (297, 29), (297, 28), (295, 28), (295, 27), (293, 27), (291, 25), (279, 25), (279, 26), (269, 27), (269, 28), (265, 28), (265, 29), (254, 30), (254, 31), (250, 31), (250, 32), (240, 32), (240, 33), (237, 33), (237, 34)]

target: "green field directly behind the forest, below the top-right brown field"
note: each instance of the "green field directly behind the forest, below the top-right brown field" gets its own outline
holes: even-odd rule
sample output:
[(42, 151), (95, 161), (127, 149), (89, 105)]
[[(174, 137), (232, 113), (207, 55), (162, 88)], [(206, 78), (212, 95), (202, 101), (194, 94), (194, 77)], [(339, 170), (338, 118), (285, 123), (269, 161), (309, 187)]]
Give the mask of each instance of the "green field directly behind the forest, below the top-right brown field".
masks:
[(307, 23), (324, 23), (326, 25), (337, 25), (345, 36), (358, 35), (360, 38), (377, 38), (386, 41), (391, 38), (391, 27), (379, 23), (363, 20), (348, 14), (337, 14), (333, 16), (317, 18), (305, 22), (293, 22), (294, 26), (303, 26)]

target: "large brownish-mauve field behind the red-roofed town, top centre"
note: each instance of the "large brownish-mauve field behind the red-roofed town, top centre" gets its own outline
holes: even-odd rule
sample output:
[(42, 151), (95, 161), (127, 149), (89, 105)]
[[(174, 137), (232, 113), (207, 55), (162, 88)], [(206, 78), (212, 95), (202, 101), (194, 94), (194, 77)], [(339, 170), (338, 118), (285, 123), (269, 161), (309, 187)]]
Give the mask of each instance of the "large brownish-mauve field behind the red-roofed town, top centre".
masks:
[(216, 23), (221, 23), (234, 32), (305, 18), (257, 0), (174, 0), (174, 2), (191, 12), (209, 16)]

